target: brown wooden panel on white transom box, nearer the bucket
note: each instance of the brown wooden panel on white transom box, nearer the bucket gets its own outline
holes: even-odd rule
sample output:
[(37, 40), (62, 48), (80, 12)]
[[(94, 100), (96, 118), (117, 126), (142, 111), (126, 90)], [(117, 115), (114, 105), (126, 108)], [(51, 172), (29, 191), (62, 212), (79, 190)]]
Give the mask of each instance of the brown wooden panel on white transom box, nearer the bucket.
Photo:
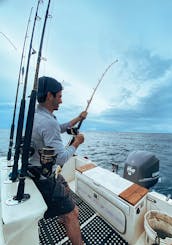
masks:
[(147, 193), (148, 189), (140, 185), (133, 184), (125, 191), (121, 192), (119, 196), (134, 206)]

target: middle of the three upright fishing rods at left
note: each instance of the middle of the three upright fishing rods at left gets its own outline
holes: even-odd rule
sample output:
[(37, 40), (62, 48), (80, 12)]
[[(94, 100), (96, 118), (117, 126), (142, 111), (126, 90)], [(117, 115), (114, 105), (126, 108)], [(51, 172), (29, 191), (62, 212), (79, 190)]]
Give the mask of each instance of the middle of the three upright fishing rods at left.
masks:
[(33, 23), (33, 28), (32, 28), (31, 40), (30, 40), (30, 45), (29, 45), (29, 52), (28, 52), (24, 87), (23, 87), (23, 96), (22, 96), (21, 103), (20, 103), (20, 111), (19, 111), (19, 117), (18, 117), (16, 142), (15, 142), (14, 164), (13, 164), (12, 174), (11, 174), (11, 178), (10, 178), (13, 182), (18, 177), (18, 161), (19, 161), (21, 143), (22, 143), (24, 113), (25, 113), (25, 104), (26, 104), (26, 99), (25, 99), (26, 98), (26, 88), (27, 88), (27, 81), (28, 81), (30, 58), (32, 55), (32, 43), (33, 43), (33, 37), (34, 37), (34, 32), (35, 32), (36, 21), (38, 18), (38, 9), (39, 9), (40, 3), (41, 3), (41, 0), (38, 0), (36, 12), (35, 12), (34, 23)]

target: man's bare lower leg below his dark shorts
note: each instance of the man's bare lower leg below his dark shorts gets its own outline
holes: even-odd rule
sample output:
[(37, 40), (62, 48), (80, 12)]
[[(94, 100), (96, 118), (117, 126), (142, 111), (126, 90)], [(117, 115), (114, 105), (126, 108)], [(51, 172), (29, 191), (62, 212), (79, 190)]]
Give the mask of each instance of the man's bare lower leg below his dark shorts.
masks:
[(78, 219), (79, 213), (78, 208), (75, 206), (74, 210), (70, 213), (63, 215), (64, 225), (66, 227), (66, 232), (72, 245), (82, 245), (84, 244), (81, 237), (81, 230)]

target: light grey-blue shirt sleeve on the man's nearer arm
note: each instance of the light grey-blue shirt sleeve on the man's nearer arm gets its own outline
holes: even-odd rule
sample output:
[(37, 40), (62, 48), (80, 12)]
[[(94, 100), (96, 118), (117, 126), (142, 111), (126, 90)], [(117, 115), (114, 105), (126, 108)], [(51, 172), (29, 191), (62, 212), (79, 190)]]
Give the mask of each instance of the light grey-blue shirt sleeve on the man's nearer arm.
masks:
[(72, 145), (67, 147), (63, 145), (60, 133), (68, 124), (63, 125), (65, 126), (61, 128), (61, 125), (54, 119), (49, 120), (49, 122), (44, 123), (43, 127), (40, 127), (45, 146), (55, 148), (55, 153), (57, 154), (56, 164), (60, 166), (63, 166), (76, 151), (76, 148)]

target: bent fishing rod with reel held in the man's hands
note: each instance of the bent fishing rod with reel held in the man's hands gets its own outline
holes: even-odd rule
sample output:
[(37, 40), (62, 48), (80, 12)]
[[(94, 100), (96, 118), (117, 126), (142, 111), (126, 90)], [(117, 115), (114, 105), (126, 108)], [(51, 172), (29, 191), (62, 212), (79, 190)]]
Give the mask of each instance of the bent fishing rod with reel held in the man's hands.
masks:
[[(97, 88), (98, 88), (98, 86), (100, 85), (100, 83), (102, 82), (102, 80), (103, 80), (105, 74), (106, 74), (106, 73), (108, 72), (108, 70), (109, 70), (115, 63), (117, 63), (117, 62), (118, 62), (117, 59), (114, 60), (114, 61), (113, 61), (113, 62), (112, 62), (112, 63), (105, 69), (105, 71), (102, 73), (101, 77), (100, 77), (99, 80), (98, 80), (98, 83), (97, 83), (96, 87), (95, 87), (94, 90), (93, 90), (93, 93), (92, 93), (90, 99), (88, 100), (87, 106), (86, 106), (86, 108), (85, 108), (85, 111), (86, 111), (86, 112), (88, 111), (88, 108), (89, 108), (89, 106), (90, 106), (90, 104), (91, 104), (91, 102), (92, 102), (92, 100), (93, 100), (93, 97), (94, 97), (94, 95), (95, 95), (95, 92), (97, 91)], [(73, 141), (75, 140), (75, 135), (78, 134), (79, 129), (80, 129), (82, 123), (83, 123), (83, 120), (84, 120), (84, 118), (80, 120), (80, 122), (78, 123), (78, 126), (77, 126), (77, 127), (72, 128), (72, 129), (69, 129), (68, 133), (69, 133), (69, 134), (73, 134), (73, 138), (71, 139), (71, 141), (69, 141), (68, 145), (71, 145), (71, 144), (73, 143)]]

